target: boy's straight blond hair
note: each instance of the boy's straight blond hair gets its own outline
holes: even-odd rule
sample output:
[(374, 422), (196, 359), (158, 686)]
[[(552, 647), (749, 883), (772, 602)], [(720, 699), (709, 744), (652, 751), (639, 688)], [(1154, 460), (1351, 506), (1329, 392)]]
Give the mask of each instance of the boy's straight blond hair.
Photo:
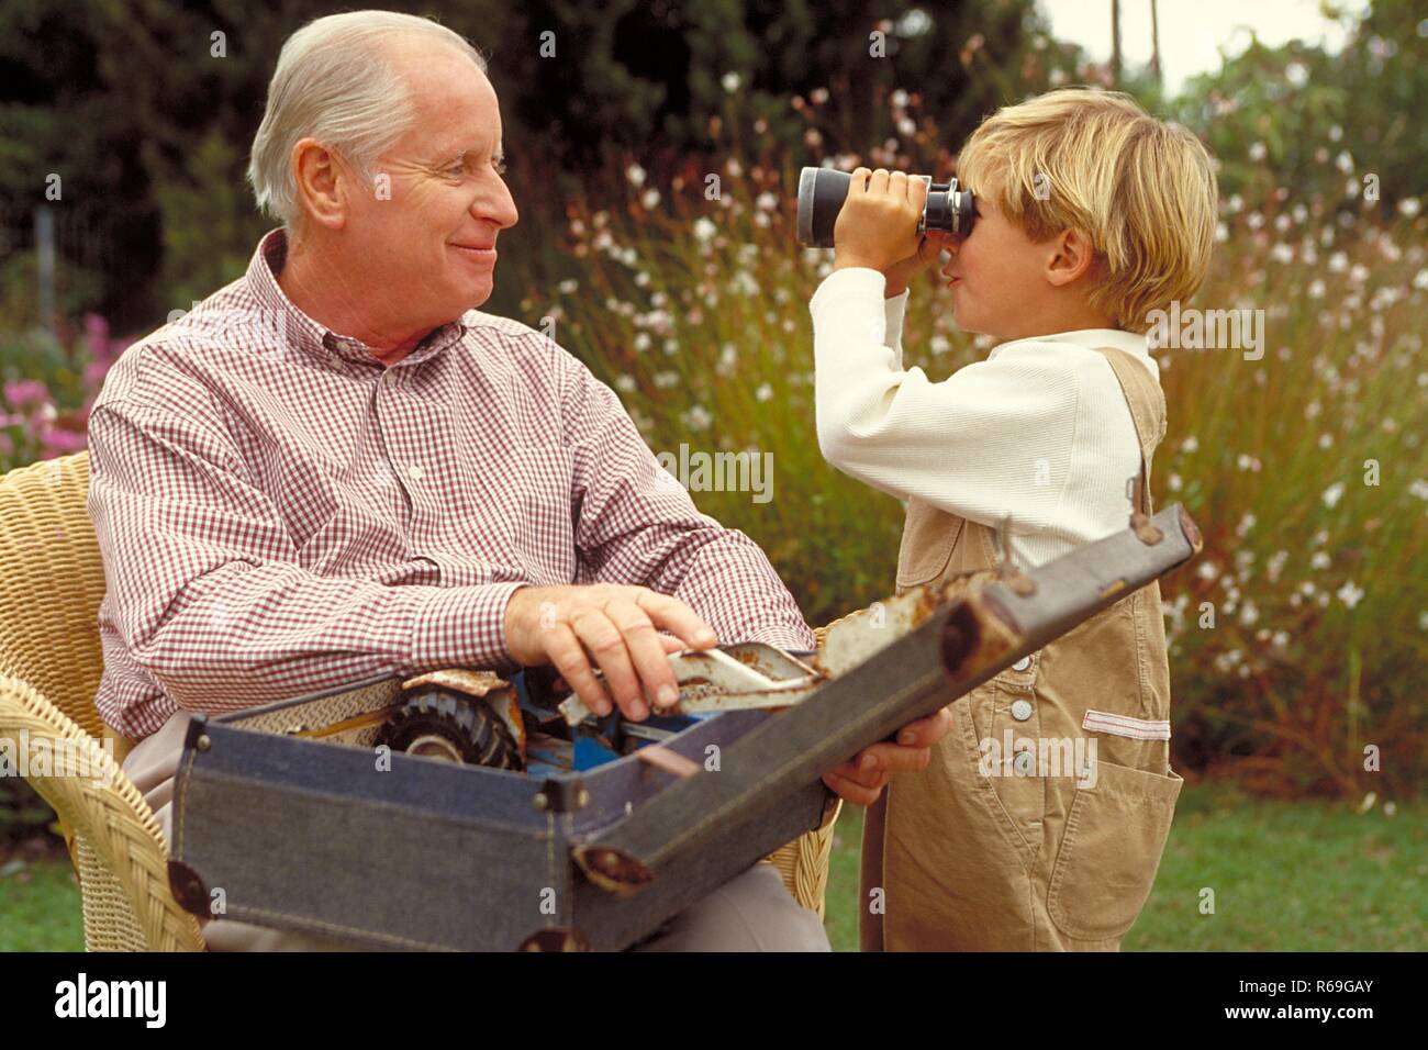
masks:
[(967, 139), (957, 177), (1032, 241), (1087, 233), (1087, 303), (1127, 331), (1148, 331), (1151, 310), (1188, 300), (1210, 269), (1210, 151), (1120, 91), (1067, 87), (997, 110)]

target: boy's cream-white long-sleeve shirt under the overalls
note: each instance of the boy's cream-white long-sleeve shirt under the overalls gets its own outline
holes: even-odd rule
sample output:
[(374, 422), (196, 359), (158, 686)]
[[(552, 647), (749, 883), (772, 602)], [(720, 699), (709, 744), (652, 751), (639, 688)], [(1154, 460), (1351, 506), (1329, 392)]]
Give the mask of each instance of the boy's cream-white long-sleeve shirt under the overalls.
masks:
[(932, 381), (902, 367), (908, 293), (884, 300), (877, 270), (831, 273), (810, 303), (818, 446), (845, 474), (902, 501), (998, 526), (1040, 566), (1125, 529), (1135, 424), (1104, 354), (1130, 351), (1160, 381), (1145, 336), (1082, 329), (995, 347)]

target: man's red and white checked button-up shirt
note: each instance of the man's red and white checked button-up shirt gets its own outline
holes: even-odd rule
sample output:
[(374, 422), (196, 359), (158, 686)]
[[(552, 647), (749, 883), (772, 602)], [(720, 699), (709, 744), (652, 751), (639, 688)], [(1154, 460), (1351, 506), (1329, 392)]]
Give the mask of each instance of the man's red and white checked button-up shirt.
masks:
[(758, 546), (695, 510), (584, 364), (471, 310), (387, 367), (288, 301), (286, 251), (273, 230), (126, 350), (91, 411), (110, 726), (511, 670), (521, 584), (644, 584), (721, 643), (813, 649)]

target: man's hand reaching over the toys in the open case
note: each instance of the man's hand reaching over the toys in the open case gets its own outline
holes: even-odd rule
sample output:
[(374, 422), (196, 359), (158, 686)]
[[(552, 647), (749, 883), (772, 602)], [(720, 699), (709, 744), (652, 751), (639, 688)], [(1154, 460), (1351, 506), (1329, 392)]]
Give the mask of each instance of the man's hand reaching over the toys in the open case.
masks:
[[(660, 634), (668, 630), (675, 637)], [(678, 599), (648, 587), (614, 583), (520, 587), (506, 606), (506, 649), (526, 666), (554, 664), (595, 714), (608, 714), (610, 693), (628, 719), (680, 699), (670, 653), (710, 649), (714, 629)], [(590, 660), (604, 671), (604, 684)]]

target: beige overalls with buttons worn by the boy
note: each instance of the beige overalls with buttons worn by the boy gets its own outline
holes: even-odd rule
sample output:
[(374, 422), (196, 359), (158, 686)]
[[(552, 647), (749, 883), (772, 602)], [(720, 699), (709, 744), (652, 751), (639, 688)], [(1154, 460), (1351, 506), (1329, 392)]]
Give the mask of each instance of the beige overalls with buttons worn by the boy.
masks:
[[(1101, 353), (1135, 421), (1150, 514), (1165, 397), (1124, 350)], [(992, 570), (994, 540), (984, 524), (911, 500), (898, 593)], [(864, 951), (1114, 951), (1145, 904), (1184, 783), (1170, 769), (1160, 584), (1020, 664), (952, 701), (952, 730), (927, 770), (898, 774), (868, 809)], [(1017, 754), (1027, 744), (1030, 761)], [(1090, 770), (1054, 764), (1077, 747)]]

